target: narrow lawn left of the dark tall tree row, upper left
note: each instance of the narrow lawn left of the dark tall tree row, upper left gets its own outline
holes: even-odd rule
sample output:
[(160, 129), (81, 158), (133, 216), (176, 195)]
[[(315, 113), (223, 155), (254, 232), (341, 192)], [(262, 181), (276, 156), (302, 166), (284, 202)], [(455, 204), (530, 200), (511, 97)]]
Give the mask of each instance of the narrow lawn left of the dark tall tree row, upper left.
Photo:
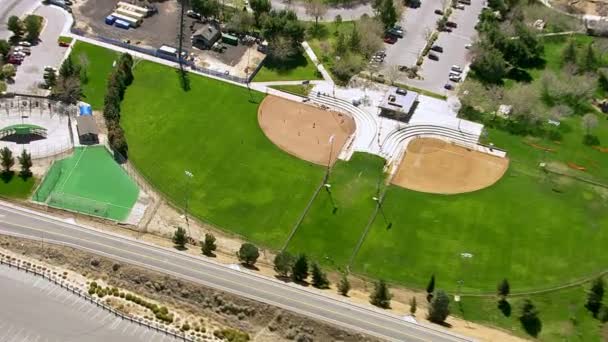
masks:
[(94, 110), (101, 110), (103, 109), (103, 98), (106, 93), (108, 75), (112, 71), (112, 64), (120, 54), (96, 45), (78, 41), (74, 44), (70, 56), (75, 63), (81, 63), (82, 55), (86, 56), (89, 61), (89, 80), (82, 85), (82, 90), (85, 94), (83, 101), (90, 103)]

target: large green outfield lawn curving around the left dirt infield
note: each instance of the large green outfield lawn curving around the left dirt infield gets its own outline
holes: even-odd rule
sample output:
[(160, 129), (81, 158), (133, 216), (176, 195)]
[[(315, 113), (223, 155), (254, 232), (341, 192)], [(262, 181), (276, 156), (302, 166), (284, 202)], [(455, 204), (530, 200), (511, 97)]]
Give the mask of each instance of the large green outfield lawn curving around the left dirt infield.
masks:
[(257, 121), (263, 95), (250, 102), (246, 88), (196, 75), (184, 92), (174, 69), (150, 62), (134, 76), (121, 106), (131, 161), (177, 205), (191, 190), (194, 215), (280, 247), (324, 169), (266, 138)]

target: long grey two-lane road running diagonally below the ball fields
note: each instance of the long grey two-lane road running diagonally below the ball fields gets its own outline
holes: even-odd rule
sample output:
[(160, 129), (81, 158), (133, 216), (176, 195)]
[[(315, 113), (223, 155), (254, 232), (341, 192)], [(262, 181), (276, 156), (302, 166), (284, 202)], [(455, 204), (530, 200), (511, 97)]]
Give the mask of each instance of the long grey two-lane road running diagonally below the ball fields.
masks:
[(233, 270), (202, 257), (66, 223), (3, 202), (0, 202), (0, 221), (1, 234), (35, 239), (44, 236), (46, 242), (143, 266), (387, 340), (470, 341), (436, 326), (405, 322), (381, 310), (329, 298), (298, 285)]

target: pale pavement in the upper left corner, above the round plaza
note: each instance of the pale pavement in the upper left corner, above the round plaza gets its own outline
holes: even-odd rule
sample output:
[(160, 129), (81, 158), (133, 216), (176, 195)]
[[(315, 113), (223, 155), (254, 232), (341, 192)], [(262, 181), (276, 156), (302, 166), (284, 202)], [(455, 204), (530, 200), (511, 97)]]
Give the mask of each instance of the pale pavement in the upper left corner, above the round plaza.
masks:
[[(4, 0), (0, 0), (4, 1)], [(18, 93), (45, 95), (47, 90), (38, 87), (44, 81), (44, 66), (59, 67), (66, 48), (57, 44), (57, 38), (65, 28), (69, 15), (54, 6), (40, 6), (34, 12), (45, 18), (45, 26), (40, 33), (40, 42), (32, 46), (32, 54), (17, 67), (15, 83), (9, 90)]]

